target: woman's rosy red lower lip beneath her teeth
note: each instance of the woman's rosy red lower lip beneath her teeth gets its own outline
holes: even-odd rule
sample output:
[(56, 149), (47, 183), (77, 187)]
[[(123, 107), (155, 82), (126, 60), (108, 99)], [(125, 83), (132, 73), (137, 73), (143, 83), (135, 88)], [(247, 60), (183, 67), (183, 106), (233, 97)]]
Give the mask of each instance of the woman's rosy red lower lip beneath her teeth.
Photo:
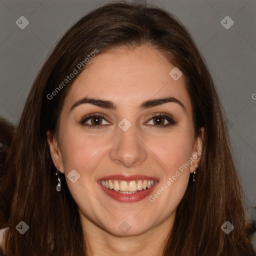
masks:
[(119, 202), (137, 202), (137, 201), (140, 201), (140, 200), (144, 199), (146, 196), (148, 196), (153, 191), (155, 186), (158, 184), (158, 181), (156, 180), (153, 183), (153, 185), (150, 186), (149, 188), (139, 190), (134, 194), (122, 194), (122, 193), (115, 192), (114, 190), (111, 190), (111, 189), (106, 188), (105, 186), (102, 186), (100, 180), (98, 180), (97, 183), (99, 184), (101, 189), (103, 189), (103, 191), (108, 196), (112, 197), (116, 201), (119, 201)]

